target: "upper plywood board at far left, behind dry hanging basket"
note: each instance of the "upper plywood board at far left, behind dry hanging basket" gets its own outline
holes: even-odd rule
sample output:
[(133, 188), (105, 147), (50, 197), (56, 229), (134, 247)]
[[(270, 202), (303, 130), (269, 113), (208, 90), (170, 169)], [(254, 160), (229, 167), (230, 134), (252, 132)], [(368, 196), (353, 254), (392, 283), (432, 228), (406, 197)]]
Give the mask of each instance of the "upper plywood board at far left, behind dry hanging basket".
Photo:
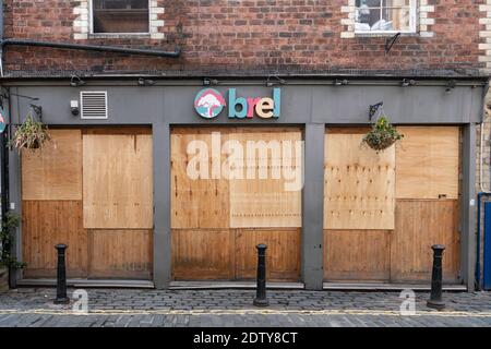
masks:
[(22, 152), (23, 200), (82, 200), (80, 130), (50, 130), (41, 149)]

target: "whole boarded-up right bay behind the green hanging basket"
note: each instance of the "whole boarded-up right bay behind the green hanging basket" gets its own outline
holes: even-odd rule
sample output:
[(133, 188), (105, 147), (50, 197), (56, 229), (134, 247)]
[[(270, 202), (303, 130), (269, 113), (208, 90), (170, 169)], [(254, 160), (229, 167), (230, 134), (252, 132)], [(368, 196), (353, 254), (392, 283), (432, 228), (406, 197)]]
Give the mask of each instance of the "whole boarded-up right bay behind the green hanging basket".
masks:
[(326, 130), (325, 280), (427, 281), (436, 243), (444, 279), (458, 279), (459, 128), (398, 130), (380, 153), (361, 145), (364, 129)]

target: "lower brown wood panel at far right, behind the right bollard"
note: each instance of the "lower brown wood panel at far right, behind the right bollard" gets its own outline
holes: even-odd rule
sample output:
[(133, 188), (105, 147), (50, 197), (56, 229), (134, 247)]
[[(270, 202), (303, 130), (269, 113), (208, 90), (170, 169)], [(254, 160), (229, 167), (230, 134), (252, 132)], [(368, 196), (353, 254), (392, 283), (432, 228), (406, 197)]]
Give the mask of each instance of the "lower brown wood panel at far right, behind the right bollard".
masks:
[(392, 237), (392, 281), (431, 281), (433, 244), (444, 244), (444, 280), (455, 282), (459, 269), (458, 203), (397, 201)]

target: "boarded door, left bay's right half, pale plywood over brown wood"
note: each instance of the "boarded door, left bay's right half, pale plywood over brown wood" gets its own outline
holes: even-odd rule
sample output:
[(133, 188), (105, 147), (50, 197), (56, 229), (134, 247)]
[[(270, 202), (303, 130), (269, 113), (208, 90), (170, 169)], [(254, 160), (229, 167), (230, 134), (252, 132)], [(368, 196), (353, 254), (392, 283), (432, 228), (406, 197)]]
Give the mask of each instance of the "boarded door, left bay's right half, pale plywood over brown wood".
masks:
[(83, 204), (89, 278), (152, 279), (151, 132), (146, 128), (84, 130)]

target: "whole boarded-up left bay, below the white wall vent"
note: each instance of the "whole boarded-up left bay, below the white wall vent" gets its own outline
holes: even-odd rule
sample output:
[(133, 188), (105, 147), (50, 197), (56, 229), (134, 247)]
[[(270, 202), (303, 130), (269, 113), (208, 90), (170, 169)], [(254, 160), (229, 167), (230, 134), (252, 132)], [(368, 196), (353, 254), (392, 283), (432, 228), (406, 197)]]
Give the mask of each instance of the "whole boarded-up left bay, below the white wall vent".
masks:
[(69, 277), (151, 279), (151, 129), (53, 129), (22, 153), (24, 276), (56, 275), (68, 244)]

